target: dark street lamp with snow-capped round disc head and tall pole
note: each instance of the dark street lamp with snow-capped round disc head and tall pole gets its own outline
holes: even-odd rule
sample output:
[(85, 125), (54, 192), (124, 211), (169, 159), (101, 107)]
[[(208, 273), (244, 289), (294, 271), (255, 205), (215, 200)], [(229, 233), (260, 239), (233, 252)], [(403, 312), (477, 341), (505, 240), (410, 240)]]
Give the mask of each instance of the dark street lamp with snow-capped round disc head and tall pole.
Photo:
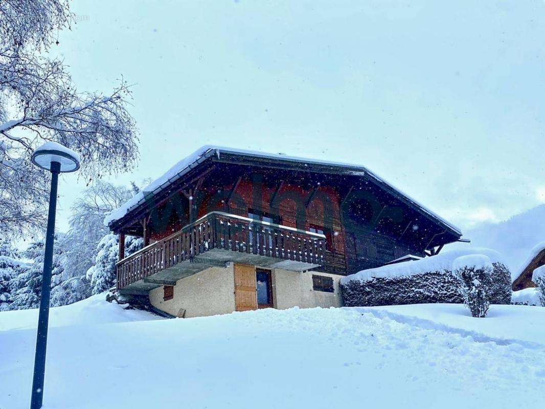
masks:
[(44, 397), (45, 350), (49, 321), (55, 212), (57, 210), (57, 182), (60, 172), (75, 172), (80, 169), (80, 155), (60, 145), (60, 143), (47, 142), (34, 151), (31, 160), (34, 165), (51, 172), (49, 213), (47, 214), (47, 233), (45, 236), (44, 274), (41, 281), (40, 314), (38, 316), (38, 335), (36, 338), (31, 399), (31, 409), (40, 409)]

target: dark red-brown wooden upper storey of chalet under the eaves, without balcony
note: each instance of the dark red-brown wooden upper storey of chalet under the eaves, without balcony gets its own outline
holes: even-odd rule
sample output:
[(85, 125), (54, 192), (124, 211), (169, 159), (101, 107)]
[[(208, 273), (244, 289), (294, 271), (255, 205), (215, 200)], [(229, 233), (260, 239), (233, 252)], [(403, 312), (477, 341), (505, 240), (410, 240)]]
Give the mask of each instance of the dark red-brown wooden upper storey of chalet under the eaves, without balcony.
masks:
[(147, 194), (110, 228), (149, 245), (211, 212), (324, 234), (325, 258), (316, 269), (337, 274), (433, 255), (461, 236), (370, 172), (219, 151)]

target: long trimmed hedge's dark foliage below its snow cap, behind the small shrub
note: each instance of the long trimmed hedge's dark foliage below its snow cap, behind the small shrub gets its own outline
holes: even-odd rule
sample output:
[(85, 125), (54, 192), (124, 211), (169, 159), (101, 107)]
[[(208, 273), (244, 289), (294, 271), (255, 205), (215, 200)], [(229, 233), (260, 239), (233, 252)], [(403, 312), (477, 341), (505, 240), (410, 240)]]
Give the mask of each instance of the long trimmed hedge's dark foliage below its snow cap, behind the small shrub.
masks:
[[(487, 288), (490, 304), (511, 303), (511, 273), (492, 263), (492, 284)], [(358, 279), (341, 283), (345, 306), (463, 303), (459, 281), (450, 270), (431, 271), (396, 278)]]

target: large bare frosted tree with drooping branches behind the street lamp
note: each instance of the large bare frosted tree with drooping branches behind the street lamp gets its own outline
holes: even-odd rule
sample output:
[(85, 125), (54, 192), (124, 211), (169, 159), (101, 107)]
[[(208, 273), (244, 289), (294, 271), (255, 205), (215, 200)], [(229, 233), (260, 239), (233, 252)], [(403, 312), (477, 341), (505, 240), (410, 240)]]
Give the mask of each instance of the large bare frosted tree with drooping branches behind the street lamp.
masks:
[(45, 141), (80, 153), (81, 175), (130, 170), (137, 159), (126, 82), (108, 94), (78, 92), (62, 61), (42, 53), (70, 28), (64, 0), (0, 0), (0, 230), (21, 233), (41, 225), (47, 175), (30, 164)]

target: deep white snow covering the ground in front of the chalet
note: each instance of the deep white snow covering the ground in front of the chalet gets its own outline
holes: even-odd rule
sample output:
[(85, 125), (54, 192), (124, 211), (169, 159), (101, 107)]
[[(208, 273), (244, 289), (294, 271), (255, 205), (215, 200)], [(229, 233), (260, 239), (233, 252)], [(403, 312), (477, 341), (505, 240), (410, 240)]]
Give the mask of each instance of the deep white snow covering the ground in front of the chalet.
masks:
[[(44, 408), (540, 407), (545, 309), (468, 315), (436, 304), (158, 320), (92, 298), (53, 309)], [(32, 317), (0, 313), (15, 328), (0, 331), (2, 409), (28, 407)]]

